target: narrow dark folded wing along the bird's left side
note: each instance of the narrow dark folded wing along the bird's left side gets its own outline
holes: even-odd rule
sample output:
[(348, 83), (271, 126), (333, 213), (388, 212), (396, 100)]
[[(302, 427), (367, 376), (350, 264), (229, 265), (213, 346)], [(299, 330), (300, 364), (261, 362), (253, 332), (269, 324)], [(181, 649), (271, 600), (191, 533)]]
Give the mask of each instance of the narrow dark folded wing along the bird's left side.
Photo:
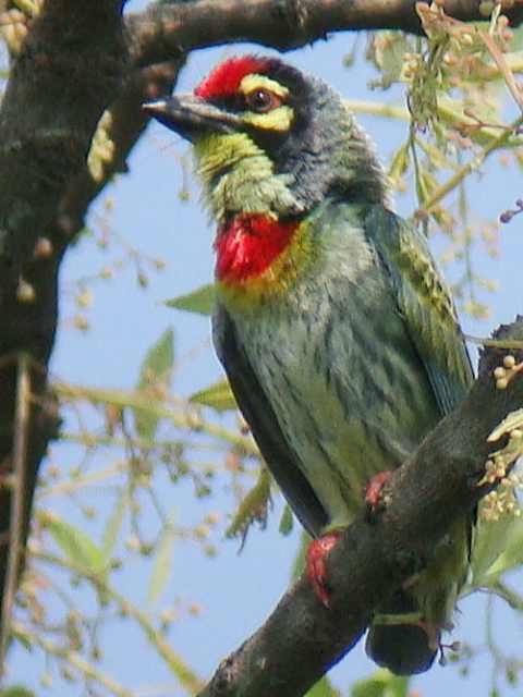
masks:
[(220, 305), (212, 318), (212, 337), (232, 392), (264, 460), (302, 525), (316, 537), (327, 525), (328, 515), (281, 431), (270, 402), (238, 338), (233, 320)]

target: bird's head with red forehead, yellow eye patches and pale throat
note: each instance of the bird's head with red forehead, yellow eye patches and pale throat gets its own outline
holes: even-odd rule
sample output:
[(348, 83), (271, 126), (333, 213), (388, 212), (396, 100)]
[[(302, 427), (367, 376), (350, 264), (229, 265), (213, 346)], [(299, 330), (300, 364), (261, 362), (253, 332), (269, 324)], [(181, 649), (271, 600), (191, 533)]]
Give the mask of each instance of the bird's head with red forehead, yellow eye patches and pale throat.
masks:
[(276, 58), (231, 58), (194, 94), (145, 109), (193, 143), (218, 221), (302, 216), (328, 196), (384, 200), (374, 148), (339, 95)]

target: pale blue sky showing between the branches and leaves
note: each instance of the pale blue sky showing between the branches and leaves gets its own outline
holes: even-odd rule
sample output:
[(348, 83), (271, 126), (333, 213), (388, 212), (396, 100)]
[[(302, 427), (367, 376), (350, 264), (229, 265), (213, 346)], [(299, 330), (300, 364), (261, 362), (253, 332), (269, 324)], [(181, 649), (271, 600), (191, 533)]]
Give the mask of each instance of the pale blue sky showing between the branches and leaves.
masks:
[[(141, 3), (130, 3), (131, 9)], [(358, 62), (348, 71), (342, 66), (342, 58), (352, 48), (354, 35), (343, 34), (329, 41), (320, 41), (313, 48), (294, 51), (287, 59), (303, 70), (324, 77), (344, 96), (360, 99), (397, 99), (401, 94), (370, 93), (367, 82), (372, 72)], [(361, 38), (363, 41), (363, 37)], [(224, 56), (245, 52), (253, 47), (238, 46), (218, 48), (193, 53), (184, 69), (178, 90), (190, 90)], [(260, 51), (259, 47), (254, 47)], [(260, 52), (269, 52), (265, 49)], [(391, 126), (376, 118), (361, 119), (377, 143), (379, 154), (388, 161), (394, 147), (405, 136), (405, 124)], [(181, 203), (181, 168), (178, 159), (188, 152), (187, 146), (173, 134), (151, 125), (129, 162), (130, 173), (119, 176), (105, 196), (95, 201), (90, 215), (90, 225), (99, 225), (104, 211), (104, 198), (113, 199), (109, 216), (111, 229), (118, 231), (134, 247), (167, 261), (163, 272), (151, 274), (147, 292), (136, 286), (132, 268), (117, 274), (114, 281), (92, 284), (95, 295), (94, 307), (89, 311), (92, 330), (87, 333), (71, 328), (72, 304), (62, 309), (61, 328), (52, 357), (56, 376), (72, 382), (113, 388), (132, 388), (139, 370), (139, 363), (147, 348), (159, 334), (172, 326), (175, 332), (177, 357), (182, 358), (199, 347), (195, 358), (174, 378), (178, 393), (188, 394), (216, 380), (220, 367), (208, 342), (208, 322), (166, 308), (161, 301), (177, 296), (206, 283), (212, 273), (211, 240), (212, 229), (198, 204), (198, 189), (190, 180), (190, 200)], [(469, 184), (474, 212), (489, 219), (513, 205), (521, 195), (520, 178), (515, 169), (503, 169), (495, 158), (487, 172), (474, 176)], [(397, 207), (403, 215), (413, 209), (413, 199), (398, 198)], [(436, 249), (441, 249), (441, 241), (435, 241)], [(475, 264), (487, 278), (497, 279), (500, 290), (488, 297), (491, 317), (485, 322), (474, 322), (464, 318), (466, 331), (485, 334), (501, 321), (510, 321), (521, 306), (521, 223), (515, 218), (501, 230), (501, 255), (489, 259), (475, 250)], [(61, 273), (64, 289), (71, 288), (75, 279), (97, 273), (110, 255), (98, 249), (90, 240), (82, 240), (65, 260)], [(108, 256), (109, 255), (109, 256)], [(451, 270), (452, 271), (452, 270)], [(68, 449), (56, 450), (56, 458), (73, 462), (77, 454)], [(206, 512), (223, 508), (231, 512), (232, 498), (220, 493), (216, 502), (194, 501), (187, 486), (173, 487), (166, 480), (161, 486), (161, 498), (166, 506), (177, 509), (177, 519), (190, 524), (200, 519)], [(96, 499), (96, 494), (95, 494)], [(77, 509), (68, 501), (58, 504), (61, 514), (72, 521), (85, 524), (78, 517)], [(106, 504), (100, 504), (101, 510)], [(175, 623), (169, 635), (172, 646), (195, 668), (202, 676), (209, 676), (219, 660), (234, 649), (250, 633), (263, 622), (277, 603), (289, 583), (290, 567), (297, 543), (297, 535), (283, 538), (278, 534), (279, 511), (277, 503), (266, 531), (251, 534), (246, 548), (238, 554), (238, 542), (226, 541), (218, 536), (217, 559), (205, 558), (191, 543), (180, 542), (174, 549), (172, 580), (168, 597), (181, 598), (203, 607), (198, 617), (186, 617)], [(99, 527), (93, 524), (93, 534)], [(139, 562), (131, 563), (125, 574), (118, 575), (115, 585), (125, 590), (139, 604), (145, 602), (147, 572)], [(80, 594), (82, 602), (92, 603), (88, 589)], [(502, 611), (497, 615), (496, 628), (510, 644), (521, 643), (521, 621)], [(457, 617), (458, 628), (454, 639), (482, 641), (484, 634), (484, 599), (474, 598), (461, 606)], [(114, 621), (102, 633), (107, 647), (104, 664), (107, 670), (127, 686), (172, 685), (168, 694), (184, 694), (175, 687), (175, 681), (148, 650), (139, 634), (130, 622)], [(44, 662), (37, 655), (28, 656), (15, 649), (11, 656), (10, 677), (12, 682), (23, 682), (45, 694), (38, 686), (38, 677)], [(372, 673), (374, 665), (365, 658), (358, 646), (332, 671), (337, 685), (345, 687), (356, 677)], [(452, 667), (436, 667), (427, 675), (416, 678), (414, 685), (423, 697), (441, 694), (487, 695), (489, 685), (488, 661), (476, 661), (474, 674), (463, 682)], [(56, 682), (49, 690), (58, 696), (81, 694), (78, 687), (64, 682)]]

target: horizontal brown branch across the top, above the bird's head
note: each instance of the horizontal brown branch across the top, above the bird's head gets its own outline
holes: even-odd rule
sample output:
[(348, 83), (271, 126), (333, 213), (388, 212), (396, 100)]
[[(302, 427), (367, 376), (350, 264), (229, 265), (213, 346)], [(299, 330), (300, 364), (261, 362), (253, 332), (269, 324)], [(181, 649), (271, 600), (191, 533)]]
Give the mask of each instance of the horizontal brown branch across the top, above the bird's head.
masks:
[[(446, 0), (445, 11), (464, 22), (485, 20), (477, 0)], [(506, 14), (518, 26), (523, 7), (514, 3)], [(235, 41), (288, 51), (326, 39), (333, 32), (423, 33), (412, 0), (196, 0), (151, 5), (147, 12), (131, 14), (126, 26), (132, 60), (137, 65)]]

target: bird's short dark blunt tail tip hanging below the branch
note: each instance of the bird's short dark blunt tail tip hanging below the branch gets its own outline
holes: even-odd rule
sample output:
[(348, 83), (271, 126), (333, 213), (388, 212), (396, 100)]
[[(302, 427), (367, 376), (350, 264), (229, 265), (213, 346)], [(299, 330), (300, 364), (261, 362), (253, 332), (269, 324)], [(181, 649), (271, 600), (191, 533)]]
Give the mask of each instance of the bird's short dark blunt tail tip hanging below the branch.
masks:
[[(389, 603), (379, 608), (381, 614), (403, 614), (417, 611), (415, 600), (400, 590)], [(434, 636), (416, 624), (372, 625), (365, 650), (378, 665), (388, 668), (396, 675), (424, 673), (434, 663), (438, 652), (439, 631)]]

